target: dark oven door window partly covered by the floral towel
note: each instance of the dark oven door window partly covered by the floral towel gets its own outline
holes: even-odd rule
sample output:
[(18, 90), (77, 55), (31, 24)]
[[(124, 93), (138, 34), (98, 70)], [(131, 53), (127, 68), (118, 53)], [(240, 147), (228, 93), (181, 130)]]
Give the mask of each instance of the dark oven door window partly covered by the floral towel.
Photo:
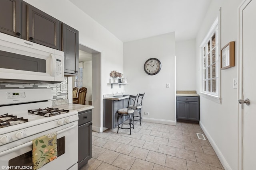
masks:
[[(57, 139), (57, 152), (58, 157), (65, 153), (65, 137)], [(32, 168), (30, 170), (34, 170), (32, 150), (9, 160), (9, 166), (10, 170), (24, 170), (24, 166), (26, 166), (26, 169)]]

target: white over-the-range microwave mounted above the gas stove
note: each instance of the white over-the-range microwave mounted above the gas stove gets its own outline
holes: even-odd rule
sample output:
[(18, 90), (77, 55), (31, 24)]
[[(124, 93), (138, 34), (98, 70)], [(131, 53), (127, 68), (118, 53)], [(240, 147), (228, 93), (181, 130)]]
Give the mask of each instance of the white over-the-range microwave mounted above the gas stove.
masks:
[(0, 33), (0, 82), (46, 84), (62, 81), (62, 51)]

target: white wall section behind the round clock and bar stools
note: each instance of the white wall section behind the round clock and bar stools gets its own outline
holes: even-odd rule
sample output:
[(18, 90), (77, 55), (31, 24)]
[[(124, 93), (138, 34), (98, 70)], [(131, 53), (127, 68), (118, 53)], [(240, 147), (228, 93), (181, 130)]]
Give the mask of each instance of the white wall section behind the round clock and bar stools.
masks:
[[(130, 83), (124, 90), (128, 94), (145, 92), (143, 121), (176, 124), (174, 56), (174, 32), (124, 43), (124, 74)], [(152, 57), (162, 63), (160, 72), (154, 76), (144, 72), (144, 63)], [(170, 83), (170, 88), (166, 88), (166, 83)], [(144, 115), (144, 111), (149, 115)]]

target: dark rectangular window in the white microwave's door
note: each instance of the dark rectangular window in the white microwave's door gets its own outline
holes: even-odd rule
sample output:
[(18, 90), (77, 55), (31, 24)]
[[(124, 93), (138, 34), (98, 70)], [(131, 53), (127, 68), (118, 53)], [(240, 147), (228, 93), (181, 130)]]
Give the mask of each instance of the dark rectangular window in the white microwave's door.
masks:
[(0, 51), (0, 68), (24, 70), (33, 72), (46, 72), (46, 60)]

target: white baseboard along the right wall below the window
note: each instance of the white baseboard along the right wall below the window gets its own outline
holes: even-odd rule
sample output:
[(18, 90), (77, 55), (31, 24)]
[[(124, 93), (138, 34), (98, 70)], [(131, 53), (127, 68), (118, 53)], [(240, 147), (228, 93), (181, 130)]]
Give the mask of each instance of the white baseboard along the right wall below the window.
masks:
[(210, 136), (210, 134), (208, 133), (208, 131), (206, 130), (206, 128), (204, 127), (201, 121), (199, 122), (199, 125), (201, 129), (204, 131), (204, 134), (206, 135), (208, 141), (212, 145), (213, 150), (216, 152), (220, 162), (222, 163), (223, 168), (225, 170), (232, 170), (232, 168), (229, 166), (228, 162), (224, 158), (223, 154), (220, 152), (220, 149), (218, 148), (218, 146), (216, 145), (216, 143), (214, 142), (214, 140), (212, 139), (212, 137)]

